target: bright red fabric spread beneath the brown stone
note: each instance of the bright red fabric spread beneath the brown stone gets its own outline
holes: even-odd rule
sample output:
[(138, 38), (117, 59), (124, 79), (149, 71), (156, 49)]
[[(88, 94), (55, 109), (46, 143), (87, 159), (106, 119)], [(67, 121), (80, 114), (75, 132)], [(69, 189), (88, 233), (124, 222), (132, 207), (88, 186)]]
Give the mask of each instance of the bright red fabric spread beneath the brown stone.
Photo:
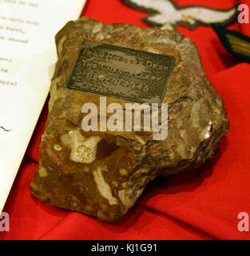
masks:
[[(234, 0), (175, 0), (225, 9)], [(250, 6), (250, 0), (243, 0)], [(85, 16), (101, 22), (126, 22), (147, 27), (146, 14), (119, 0), (89, 0)], [(249, 24), (231, 26), (250, 34)], [(198, 46), (204, 69), (224, 98), (231, 127), (220, 143), (216, 158), (199, 170), (157, 178), (136, 206), (116, 224), (98, 222), (83, 214), (46, 206), (32, 196), (28, 186), (37, 168), (39, 143), (47, 110), (42, 112), (26, 158), (18, 172), (4, 211), (10, 214), (10, 232), (0, 239), (249, 239), (237, 230), (237, 215), (250, 214), (250, 65), (224, 50), (211, 28), (178, 30)]]

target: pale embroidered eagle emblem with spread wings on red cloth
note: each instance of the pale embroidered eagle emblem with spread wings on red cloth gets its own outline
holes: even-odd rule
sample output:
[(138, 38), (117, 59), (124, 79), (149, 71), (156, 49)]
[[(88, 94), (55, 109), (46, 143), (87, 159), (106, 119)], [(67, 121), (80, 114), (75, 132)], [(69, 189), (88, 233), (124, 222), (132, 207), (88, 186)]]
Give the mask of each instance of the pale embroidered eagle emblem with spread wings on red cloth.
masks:
[(214, 23), (226, 25), (237, 15), (237, 6), (228, 10), (217, 10), (204, 6), (178, 6), (170, 0), (122, 0), (128, 6), (146, 11), (149, 16), (143, 20), (150, 26), (174, 30), (177, 26), (187, 26), (194, 30), (199, 25)]

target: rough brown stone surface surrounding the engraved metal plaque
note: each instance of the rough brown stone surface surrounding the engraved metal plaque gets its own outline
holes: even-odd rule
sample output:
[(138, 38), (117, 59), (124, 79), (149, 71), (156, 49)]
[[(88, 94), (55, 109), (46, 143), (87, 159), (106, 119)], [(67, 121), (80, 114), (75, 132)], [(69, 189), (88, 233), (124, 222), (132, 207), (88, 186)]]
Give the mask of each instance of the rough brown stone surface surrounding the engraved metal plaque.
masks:
[[(176, 58), (164, 99), (169, 103), (169, 135), (164, 141), (153, 141), (150, 132), (81, 130), (81, 107), (85, 102), (98, 105), (99, 95), (65, 86), (85, 40)], [(158, 175), (177, 174), (212, 158), (228, 130), (228, 120), (189, 38), (176, 31), (81, 18), (69, 22), (56, 42), (58, 63), (50, 90), (50, 114), (38, 171), (30, 185), (36, 197), (52, 206), (115, 221)], [(125, 104), (108, 97), (110, 102)]]

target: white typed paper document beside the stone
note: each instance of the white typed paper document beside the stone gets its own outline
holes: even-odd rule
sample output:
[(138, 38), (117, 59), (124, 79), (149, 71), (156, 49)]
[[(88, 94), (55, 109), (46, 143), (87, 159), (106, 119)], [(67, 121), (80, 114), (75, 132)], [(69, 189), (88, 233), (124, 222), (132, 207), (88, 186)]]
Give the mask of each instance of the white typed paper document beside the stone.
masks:
[(0, 0), (0, 213), (49, 93), (54, 36), (84, 4)]

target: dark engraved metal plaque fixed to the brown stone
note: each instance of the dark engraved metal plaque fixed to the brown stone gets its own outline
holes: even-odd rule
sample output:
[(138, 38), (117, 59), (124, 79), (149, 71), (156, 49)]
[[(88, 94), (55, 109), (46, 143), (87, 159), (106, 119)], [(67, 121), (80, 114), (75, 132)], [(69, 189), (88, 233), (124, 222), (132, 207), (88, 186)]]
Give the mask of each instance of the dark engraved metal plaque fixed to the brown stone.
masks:
[(174, 62), (171, 56), (85, 42), (67, 87), (161, 106)]

